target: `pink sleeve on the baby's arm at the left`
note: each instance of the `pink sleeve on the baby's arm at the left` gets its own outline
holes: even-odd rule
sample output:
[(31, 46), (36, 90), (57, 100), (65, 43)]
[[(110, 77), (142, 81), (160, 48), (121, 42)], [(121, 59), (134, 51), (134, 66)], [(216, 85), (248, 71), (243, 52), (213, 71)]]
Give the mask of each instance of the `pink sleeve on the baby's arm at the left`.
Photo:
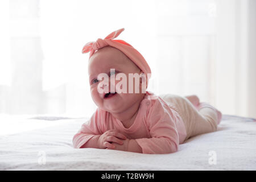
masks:
[(80, 148), (95, 135), (104, 133), (104, 122), (102, 121), (105, 120), (102, 120), (102, 117), (104, 117), (102, 111), (97, 109), (90, 120), (82, 124), (81, 129), (73, 137), (74, 148)]

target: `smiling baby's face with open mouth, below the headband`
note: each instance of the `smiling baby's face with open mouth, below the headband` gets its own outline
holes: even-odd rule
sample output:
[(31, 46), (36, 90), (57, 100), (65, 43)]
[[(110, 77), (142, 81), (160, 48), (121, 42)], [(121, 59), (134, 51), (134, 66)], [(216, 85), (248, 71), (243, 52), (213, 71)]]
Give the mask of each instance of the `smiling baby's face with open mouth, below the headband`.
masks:
[[(99, 93), (97, 89), (98, 84), (104, 81), (104, 79), (97, 80), (97, 76), (100, 73), (106, 73), (106, 75), (109, 76), (110, 92), (110, 69), (115, 69), (115, 76), (117, 76), (118, 73), (124, 73), (126, 75), (127, 92), (115, 93), (112, 97), (104, 98), (105, 93)], [(139, 85), (140, 93), (135, 93), (135, 81), (133, 83), (133, 93), (129, 93), (129, 73), (141, 74), (142, 72), (133, 61), (118, 49), (110, 46), (104, 47), (90, 57), (88, 64), (90, 93), (93, 101), (100, 109), (109, 111), (110, 113), (121, 113), (136, 102), (142, 100), (144, 93), (141, 93), (141, 84)], [(121, 80), (115, 80), (115, 85)], [(117, 90), (115, 90), (115, 92), (117, 92)]]

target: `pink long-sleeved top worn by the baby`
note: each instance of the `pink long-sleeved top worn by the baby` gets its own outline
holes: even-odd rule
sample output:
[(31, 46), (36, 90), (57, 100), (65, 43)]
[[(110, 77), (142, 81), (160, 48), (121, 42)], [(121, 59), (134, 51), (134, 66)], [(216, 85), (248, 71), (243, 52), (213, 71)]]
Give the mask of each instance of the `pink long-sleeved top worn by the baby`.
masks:
[(73, 146), (80, 148), (94, 135), (101, 135), (111, 129), (118, 130), (129, 139), (135, 139), (144, 154), (176, 152), (179, 144), (187, 137), (180, 115), (162, 98), (148, 91), (141, 101), (133, 125), (128, 129), (108, 111), (97, 109), (73, 137)]

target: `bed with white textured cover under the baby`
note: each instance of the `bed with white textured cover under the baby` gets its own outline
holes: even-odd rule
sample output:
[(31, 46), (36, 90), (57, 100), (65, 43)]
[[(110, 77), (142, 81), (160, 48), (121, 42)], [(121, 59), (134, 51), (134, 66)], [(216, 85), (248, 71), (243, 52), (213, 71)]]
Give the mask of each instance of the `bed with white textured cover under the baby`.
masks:
[(0, 170), (256, 170), (256, 121), (223, 115), (218, 130), (173, 154), (75, 149), (88, 118), (0, 117)]

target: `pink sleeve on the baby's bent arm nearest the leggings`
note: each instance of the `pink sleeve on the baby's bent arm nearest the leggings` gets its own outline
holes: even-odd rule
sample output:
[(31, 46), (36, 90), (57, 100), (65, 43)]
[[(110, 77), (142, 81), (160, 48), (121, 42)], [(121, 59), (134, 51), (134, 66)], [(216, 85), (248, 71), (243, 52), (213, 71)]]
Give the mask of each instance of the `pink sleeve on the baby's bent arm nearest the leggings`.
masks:
[(168, 105), (160, 100), (152, 100), (148, 111), (147, 124), (151, 138), (136, 139), (144, 154), (168, 154), (179, 147), (179, 135), (174, 115)]

